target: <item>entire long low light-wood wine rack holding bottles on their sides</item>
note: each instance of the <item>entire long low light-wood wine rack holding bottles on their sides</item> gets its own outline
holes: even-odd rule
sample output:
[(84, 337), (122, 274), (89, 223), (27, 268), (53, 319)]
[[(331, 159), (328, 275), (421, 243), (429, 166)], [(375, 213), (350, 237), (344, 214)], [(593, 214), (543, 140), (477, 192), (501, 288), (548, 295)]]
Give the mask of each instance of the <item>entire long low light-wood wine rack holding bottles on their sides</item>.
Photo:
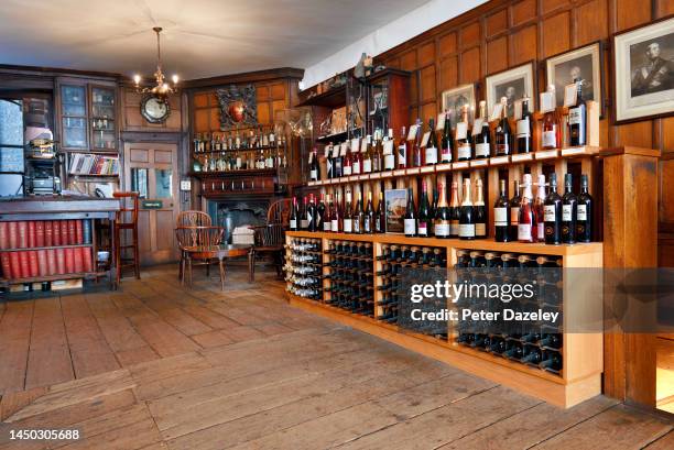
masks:
[[(320, 296), (307, 299), (293, 294), (291, 288), (294, 285), (289, 284), (287, 296), (293, 306), (562, 407), (570, 407), (601, 392), (602, 333), (570, 332), (566, 327), (569, 320), (588, 314), (595, 317), (602, 314), (601, 295), (585, 288), (578, 295), (576, 285), (579, 279), (566, 271), (574, 267), (601, 267), (601, 242), (546, 245), (494, 242), (490, 239), (465, 241), (406, 238), (393, 233), (309, 231), (289, 231), (285, 239), (289, 255), (302, 254), (291, 246), (303, 242), (303, 239), (316, 240), (320, 244), (314, 244), (315, 249), (323, 249), (324, 290)], [(365, 251), (366, 257), (360, 255), (361, 251)], [(298, 263), (289, 260), (290, 264), (294, 266)], [(500, 333), (474, 329), (468, 332), (459, 329), (456, 321), (428, 321), (410, 326), (410, 308), (423, 306), (426, 300), (412, 306), (410, 301), (401, 301), (402, 296), (407, 295), (401, 288), (401, 282), (407, 284), (410, 276), (415, 277), (414, 283), (427, 283), (427, 279), (443, 277), (448, 279), (461, 273), (447, 271), (454, 267), (467, 267), (469, 274), (471, 267), (493, 270), (486, 274), (482, 271), (480, 276), (500, 276), (499, 271), (503, 267), (521, 270), (519, 275), (514, 275), (521, 277), (520, 281), (532, 279), (536, 271), (542, 268), (562, 267), (563, 271), (552, 271), (559, 273), (558, 279), (551, 281), (546, 275), (550, 283), (539, 283), (539, 288), (557, 293), (558, 301), (547, 305), (546, 296), (542, 307), (561, 311), (564, 332), (543, 326), (533, 331), (509, 330)], [(334, 276), (337, 279), (333, 279)], [(423, 279), (417, 282), (416, 278)], [(363, 285), (365, 279), (370, 283), (371, 290)], [(346, 292), (352, 289), (355, 281), (358, 289), (366, 288), (359, 292), (367, 294), (358, 295), (357, 298), (356, 295), (345, 296), (345, 287)], [(454, 278), (448, 281), (456, 282)], [(372, 299), (369, 298), (370, 293)], [(441, 298), (438, 301), (447, 310), (460, 308), (460, 304), (449, 299)], [(496, 306), (486, 305), (485, 309), (491, 307)], [(438, 325), (444, 329), (438, 329)]]

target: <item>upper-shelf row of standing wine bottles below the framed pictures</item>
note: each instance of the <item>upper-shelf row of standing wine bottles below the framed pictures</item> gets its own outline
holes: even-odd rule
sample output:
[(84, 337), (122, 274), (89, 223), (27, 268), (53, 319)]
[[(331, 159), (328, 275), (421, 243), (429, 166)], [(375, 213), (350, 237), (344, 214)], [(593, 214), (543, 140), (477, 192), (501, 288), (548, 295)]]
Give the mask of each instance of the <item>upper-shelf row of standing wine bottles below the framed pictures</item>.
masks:
[[(572, 146), (586, 145), (587, 141), (587, 107), (583, 99), (583, 83), (577, 83), (576, 105), (569, 109), (568, 135)], [(442, 138), (436, 135), (435, 119), (428, 120), (424, 132), (420, 119), (411, 127), (410, 133), (402, 128), (398, 142), (393, 130), (387, 135), (382, 130), (376, 130), (374, 135), (363, 140), (348, 140), (340, 144), (325, 146), (326, 176), (339, 178), (349, 175), (369, 174), (395, 168), (421, 167), (450, 162), (507, 156), (513, 153), (531, 153), (533, 143), (533, 117), (529, 97), (522, 99), (522, 113), (517, 120), (515, 131), (512, 131), (508, 119), (508, 98), (501, 98), (501, 117), (493, 131), (489, 127), (486, 102), (480, 101), (480, 117), (469, 123), (468, 106), (461, 109), (461, 121), (452, 130), (449, 112), (444, 114)], [(441, 116), (441, 118), (443, 118)], [(541, 149), (558, 149), (562, 146), (561, 119), (554, 110), (543, 117)], [(314, 149), (309, 156), (309, 179), (322, 179), (318, 151)]]

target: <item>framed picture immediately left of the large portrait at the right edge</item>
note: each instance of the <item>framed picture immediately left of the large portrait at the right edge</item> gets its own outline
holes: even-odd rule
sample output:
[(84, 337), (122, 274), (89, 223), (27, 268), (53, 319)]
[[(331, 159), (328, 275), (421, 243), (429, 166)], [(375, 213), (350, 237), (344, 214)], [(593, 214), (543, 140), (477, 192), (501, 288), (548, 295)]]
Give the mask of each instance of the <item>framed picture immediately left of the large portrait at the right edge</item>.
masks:
[(555, 87), (556, 106), (564, 105), (564, 87), (583, 79), (583, 98), (594, 100), (604, 109), (601, 79), (601, 44), (596, 42), (584, 47), (551, 56), (545, 61), (547, 86)]

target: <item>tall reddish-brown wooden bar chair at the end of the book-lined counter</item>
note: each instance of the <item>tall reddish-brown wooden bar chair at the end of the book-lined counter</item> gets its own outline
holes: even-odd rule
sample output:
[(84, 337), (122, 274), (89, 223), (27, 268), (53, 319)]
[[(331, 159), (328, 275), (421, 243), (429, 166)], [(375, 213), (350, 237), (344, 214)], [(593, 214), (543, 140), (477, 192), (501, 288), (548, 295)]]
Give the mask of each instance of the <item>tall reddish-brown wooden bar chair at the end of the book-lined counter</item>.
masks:
[[(133, 267), (135, 278), (140, 279), (140, 259), (138, 253), (138, 193), (112, 193), (120, 204), (115, 218), (115, 265), (116, 282), (119, 284), (124, 267)], [(129, 241), (126, 231), (131, 231)], [(124, 257), (124, 250), (131, 250), (131, 257)]]

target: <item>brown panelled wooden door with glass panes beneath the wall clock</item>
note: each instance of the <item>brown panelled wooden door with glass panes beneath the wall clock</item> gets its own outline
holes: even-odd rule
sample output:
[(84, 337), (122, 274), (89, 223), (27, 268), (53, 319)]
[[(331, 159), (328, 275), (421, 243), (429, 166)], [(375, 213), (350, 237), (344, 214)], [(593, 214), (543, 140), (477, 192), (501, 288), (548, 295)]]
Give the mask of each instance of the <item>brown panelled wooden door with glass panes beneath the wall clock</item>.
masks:
[(126, 189), (140, 194), (138, 216), (141, 264), (177, 261), (177, 144), (124, 143)]

